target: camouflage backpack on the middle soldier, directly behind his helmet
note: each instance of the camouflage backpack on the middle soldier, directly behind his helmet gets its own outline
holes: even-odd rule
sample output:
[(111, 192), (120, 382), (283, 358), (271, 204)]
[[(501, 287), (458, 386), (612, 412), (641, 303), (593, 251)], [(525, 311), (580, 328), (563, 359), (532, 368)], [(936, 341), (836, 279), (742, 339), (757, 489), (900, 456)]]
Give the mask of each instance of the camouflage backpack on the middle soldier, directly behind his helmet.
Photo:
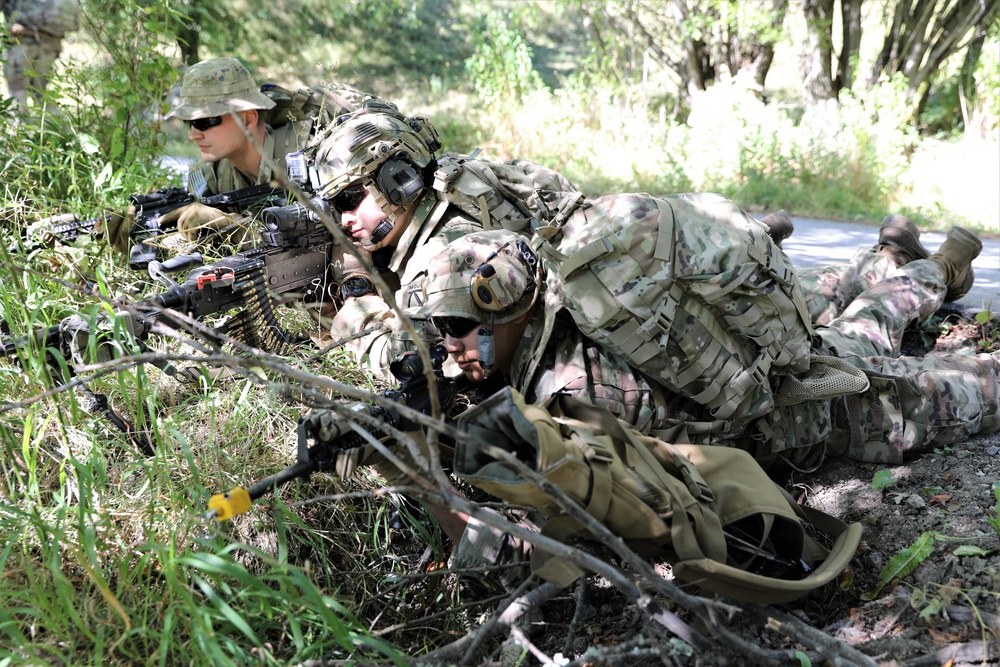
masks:
[[(586, 195), (557, 171), (528, 160), (490, 162), (472, 155), (447, 153), (437, 160), (432, 188), (436, 210), (448, 205), (480, 220), (483, 229), (531, 233), (540, 225), (561, 226), (584, 204)], [(432, 224), (431, 227), (434, 225)]]

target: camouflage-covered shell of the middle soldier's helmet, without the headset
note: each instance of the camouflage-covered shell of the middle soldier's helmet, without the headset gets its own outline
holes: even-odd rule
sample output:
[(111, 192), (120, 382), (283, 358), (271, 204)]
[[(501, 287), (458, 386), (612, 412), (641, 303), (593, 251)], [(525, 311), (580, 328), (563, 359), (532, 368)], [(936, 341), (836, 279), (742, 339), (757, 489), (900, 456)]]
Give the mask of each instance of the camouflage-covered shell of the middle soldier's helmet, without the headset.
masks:
[(357, 181), (370, 182), (390, 158), (405, 158), (423, 169), (440, 147), (426, 117), (404, 116), (384, 102), (366, 103), (338, 118), (321, 140), (315, 158), (320, 191), (330, 198)]

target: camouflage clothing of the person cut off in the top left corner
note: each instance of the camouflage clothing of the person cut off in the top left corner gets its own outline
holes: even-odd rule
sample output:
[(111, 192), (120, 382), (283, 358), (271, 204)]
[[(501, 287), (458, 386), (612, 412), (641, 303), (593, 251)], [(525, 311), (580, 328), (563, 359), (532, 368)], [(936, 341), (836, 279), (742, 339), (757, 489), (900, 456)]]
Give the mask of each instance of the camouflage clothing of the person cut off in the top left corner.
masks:
[(0, 9), (14, 40), (4, 54), (7, 91), (21, 109), (29, 94), (41, 104), (63, 36), (80, 27), (79, 1), (7, 0)]

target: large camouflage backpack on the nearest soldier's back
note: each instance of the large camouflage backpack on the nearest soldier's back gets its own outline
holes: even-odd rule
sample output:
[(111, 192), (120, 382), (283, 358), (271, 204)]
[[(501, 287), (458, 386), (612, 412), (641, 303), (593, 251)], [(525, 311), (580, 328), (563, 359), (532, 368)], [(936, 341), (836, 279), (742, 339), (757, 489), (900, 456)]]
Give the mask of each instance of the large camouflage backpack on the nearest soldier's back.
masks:
[(813, 332), (791, 262), (723, 197), (601, 198), (535, 245), (549, 291), (585, 335), (728, 432), (773, 409), (772, 378), (809, 369)]

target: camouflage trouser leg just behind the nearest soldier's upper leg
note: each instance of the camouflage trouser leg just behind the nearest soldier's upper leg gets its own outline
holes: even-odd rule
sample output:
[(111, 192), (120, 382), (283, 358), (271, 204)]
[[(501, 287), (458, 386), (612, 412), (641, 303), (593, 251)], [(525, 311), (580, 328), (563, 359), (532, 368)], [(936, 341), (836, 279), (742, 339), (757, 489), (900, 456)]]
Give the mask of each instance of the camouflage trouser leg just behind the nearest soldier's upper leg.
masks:
[(829, 324), (839, 317), (862, 292), (896, 270), (886, 254), (858, 250), (850, 261), (796, 270), (805, 295), (809, 319), (814, 325)]

